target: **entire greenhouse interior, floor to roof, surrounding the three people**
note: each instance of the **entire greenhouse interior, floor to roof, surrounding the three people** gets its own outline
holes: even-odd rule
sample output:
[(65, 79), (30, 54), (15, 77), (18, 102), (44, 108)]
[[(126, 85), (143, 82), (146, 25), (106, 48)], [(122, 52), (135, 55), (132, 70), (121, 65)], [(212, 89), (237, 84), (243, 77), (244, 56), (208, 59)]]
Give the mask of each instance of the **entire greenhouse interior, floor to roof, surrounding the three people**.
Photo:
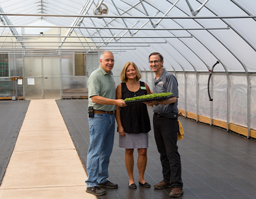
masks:
[[(152, 90), (152, 52), (176, 77), (183, 198), (255, 198), (255, 0), (0, 0), (0, 20), (0, 198), (87, 198), (87, 81), (104, 51), (114, 55), (115, 86), (132, 61)], [(153, 185), (161, 168), (151, 132), (145, 175)], [(170, 198), (128, 189), (115, 133), (109, 172), (119, 188), (103, 198)]]

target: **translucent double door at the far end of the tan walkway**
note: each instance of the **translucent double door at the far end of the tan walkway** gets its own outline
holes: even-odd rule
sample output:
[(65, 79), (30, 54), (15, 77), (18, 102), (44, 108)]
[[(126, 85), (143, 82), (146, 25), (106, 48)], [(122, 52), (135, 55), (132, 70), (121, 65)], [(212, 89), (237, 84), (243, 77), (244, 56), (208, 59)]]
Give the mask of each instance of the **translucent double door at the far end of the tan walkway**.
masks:
[(24, 97), (61, 98), (60, 56), (24, 56)]

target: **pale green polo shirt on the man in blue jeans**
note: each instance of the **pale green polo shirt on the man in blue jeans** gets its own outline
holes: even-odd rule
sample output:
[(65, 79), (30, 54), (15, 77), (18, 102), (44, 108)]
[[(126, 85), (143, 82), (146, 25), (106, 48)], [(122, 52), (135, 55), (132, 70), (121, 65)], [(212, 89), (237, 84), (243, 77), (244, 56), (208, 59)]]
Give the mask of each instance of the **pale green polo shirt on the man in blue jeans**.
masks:
[(93, 106), (94, 110), (112, 111), (115, 110), (115, 105), (100, 105), (92, 102), (92, 96), (101, 96), (109, 99), (115, 99), (115, 81), (112, 71), (106, 73), (104, 69), (98, 67), (96, 71), (90, 74), (87, 81), (88, 87), (88, 106)]

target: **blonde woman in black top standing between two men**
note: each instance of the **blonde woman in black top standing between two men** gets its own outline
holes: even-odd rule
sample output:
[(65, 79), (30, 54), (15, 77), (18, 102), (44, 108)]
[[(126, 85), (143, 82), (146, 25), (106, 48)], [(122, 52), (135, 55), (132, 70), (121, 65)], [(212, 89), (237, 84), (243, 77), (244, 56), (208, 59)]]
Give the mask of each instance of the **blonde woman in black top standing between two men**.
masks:
[[(116, 99), (151, 93), (148, 85), (139, 81), (141, 74), (133, 62), (127, 62), (119, 76), (122, 83), (117, 86)], [(116, 106), (115, 119), (118, 126), (119, 147), (125, 148), (125, 165), (129, 176), (129, 188), (137, 188), (133, 176), (134, 148), (138, 148), (139, 185), (150, 188), (150, 184), (144, 180), (147, 165), (148, 132), (151, 130), (147, 105), (137, 103), (126, 107)]]

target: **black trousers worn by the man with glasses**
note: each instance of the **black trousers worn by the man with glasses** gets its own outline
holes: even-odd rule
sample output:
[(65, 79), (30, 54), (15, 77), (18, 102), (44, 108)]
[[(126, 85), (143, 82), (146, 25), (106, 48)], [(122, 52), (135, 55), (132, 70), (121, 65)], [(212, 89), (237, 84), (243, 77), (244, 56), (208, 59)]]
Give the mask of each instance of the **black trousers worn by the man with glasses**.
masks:
[(163, 179), (170, 183), (171, 187), (183, 187), (181, 180), (181, 161), (177, 151), (177, 132), (179, 123), (177, 119), (167, 117), (153, 117), (155, 142), (160, 153), (160, 161), (163, 167)]

